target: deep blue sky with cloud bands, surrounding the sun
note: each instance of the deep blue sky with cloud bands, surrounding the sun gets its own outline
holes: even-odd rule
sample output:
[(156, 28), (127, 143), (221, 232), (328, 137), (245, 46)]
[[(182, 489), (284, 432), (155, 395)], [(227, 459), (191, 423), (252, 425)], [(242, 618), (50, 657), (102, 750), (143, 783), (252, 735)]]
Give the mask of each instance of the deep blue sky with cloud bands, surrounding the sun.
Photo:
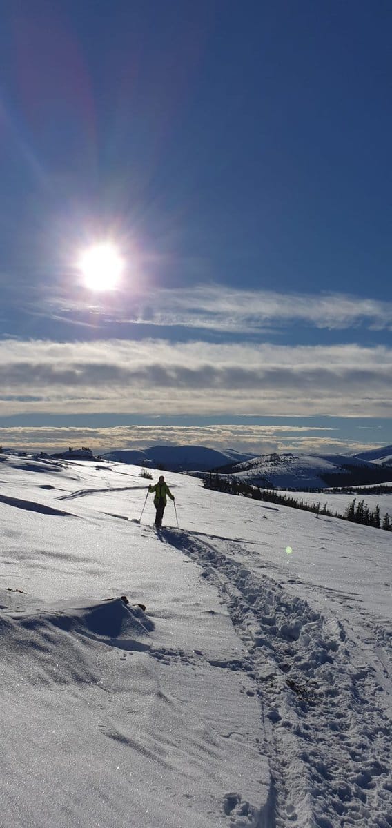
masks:
[(2, 10), (0, 442), (392, 443), (390, 3)]

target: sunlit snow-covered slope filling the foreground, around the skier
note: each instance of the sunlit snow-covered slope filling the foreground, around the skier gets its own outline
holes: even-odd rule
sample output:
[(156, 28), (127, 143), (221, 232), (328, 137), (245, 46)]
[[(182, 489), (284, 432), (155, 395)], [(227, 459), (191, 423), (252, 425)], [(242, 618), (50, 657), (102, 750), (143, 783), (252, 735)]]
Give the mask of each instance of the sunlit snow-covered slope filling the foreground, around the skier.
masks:
[(0, 460), (2, 828), (392, 825), (390, 532)]

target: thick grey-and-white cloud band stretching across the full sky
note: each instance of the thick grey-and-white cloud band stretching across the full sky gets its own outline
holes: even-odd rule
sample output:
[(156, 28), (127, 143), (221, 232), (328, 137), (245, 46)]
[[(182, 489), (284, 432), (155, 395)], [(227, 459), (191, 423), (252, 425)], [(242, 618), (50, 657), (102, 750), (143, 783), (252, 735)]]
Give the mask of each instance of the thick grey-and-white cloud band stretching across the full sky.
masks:
[(163, 339), (5, 340), (0, 342), (0, 387), (0, 416), (390, 416), (392, 349)]

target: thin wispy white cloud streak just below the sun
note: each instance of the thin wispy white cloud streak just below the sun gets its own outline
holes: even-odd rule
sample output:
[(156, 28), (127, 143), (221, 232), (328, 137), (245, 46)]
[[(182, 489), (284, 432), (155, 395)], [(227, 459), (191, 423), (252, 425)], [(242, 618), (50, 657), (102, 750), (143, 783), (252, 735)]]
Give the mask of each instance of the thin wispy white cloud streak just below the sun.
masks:
[[(55, 315), (60, 309), (63, 320), (67, 315), (72, 320), (74, 315), (76, 321), (75, 313), (84, 310), (80, 297), (75, 301), (72, 296), (53, 296), (49, 306)], [(102, 310), (108, 312), (107, 307)], [(392, 330), (392, 302), (336, 293), (283, 294), (201, 284), (191, 288), (157, 287), (146, 295), (132, 290), (119, 292), (117, 298), (112, 296), (109, 317), (123, 323), (231, 334), (256, 334), (293, 324), (329, 330), (360, 325), (371, 330)], [(83, 324), (91, 322), (83, 320)]]

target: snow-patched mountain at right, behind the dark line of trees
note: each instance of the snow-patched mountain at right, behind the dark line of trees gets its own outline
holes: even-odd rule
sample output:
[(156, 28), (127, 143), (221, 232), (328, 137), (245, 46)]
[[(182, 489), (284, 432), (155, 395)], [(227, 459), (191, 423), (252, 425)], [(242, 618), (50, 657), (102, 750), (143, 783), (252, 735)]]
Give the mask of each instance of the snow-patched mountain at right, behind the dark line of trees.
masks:
[(249, 484), (278, 489), (323, 489), (392, 480), (392, 469), (348, 455), (262, 455), (226, 470)]

